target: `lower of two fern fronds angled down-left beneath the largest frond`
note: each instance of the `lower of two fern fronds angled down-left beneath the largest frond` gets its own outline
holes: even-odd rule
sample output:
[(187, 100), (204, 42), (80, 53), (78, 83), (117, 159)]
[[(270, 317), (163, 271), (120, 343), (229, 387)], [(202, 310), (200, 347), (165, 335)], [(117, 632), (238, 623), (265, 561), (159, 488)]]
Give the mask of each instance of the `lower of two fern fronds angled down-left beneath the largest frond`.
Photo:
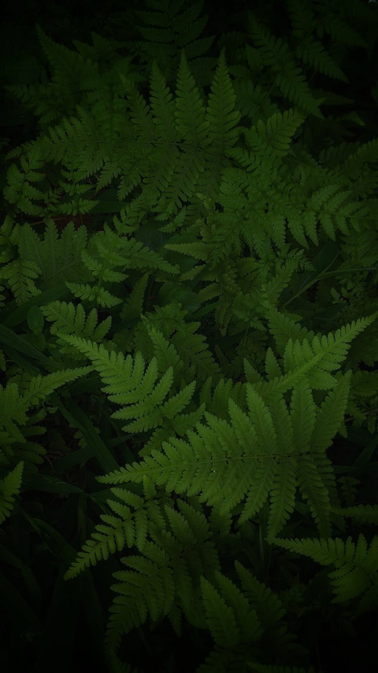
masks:
[[(148, 614), (160, 620), (168, 616), (181, 635), (181, 610), (197, 628), (205, 628), (201, 609), (201, 576), (220, 571), (218, 553), (205, 516), (177, 500), (180, 512), (164, 505), (167, 523), (150, 524), (153, 542), (144, 544), (143, 556), (121, 559), (134, 570), (113, 573), (118, 583), (111, 589), (118, 595), (110, 608), (105, 636), (107, 645), (118, 647), (123, 634), (143, 624)], [(185, 505), (183, 509), (182, 505)], [(191, 511), (190, 520), (183, 512)], [(167, 526), (171, 530), (167, 530)]]

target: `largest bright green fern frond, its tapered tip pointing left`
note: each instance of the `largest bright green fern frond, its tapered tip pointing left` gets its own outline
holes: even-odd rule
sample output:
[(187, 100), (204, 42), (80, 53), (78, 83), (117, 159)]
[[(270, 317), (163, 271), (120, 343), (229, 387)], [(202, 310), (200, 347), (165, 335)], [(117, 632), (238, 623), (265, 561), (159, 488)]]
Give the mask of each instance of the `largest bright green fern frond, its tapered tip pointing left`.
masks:
[[(367, 319), (367, 322), (370, 320)], [(362, 324), (364, 321), (359, 326)], [(344, 330), (345, 334), (348, 332)], [(331, 343), (335, 341), (331, 339)], [(326, 364), (329, 365), (328, 360)], [(294, 372), (297, 371), (295, 366)], [(287, 376), (291, 376), (290, 372)], [(228, 398), (230, 424), (205, 411), (207, 426), (197, 423), (197, 433), (188, 430), (189, 443), (173, 436), (165, 441), (164, 435), (161, 435), (162, 439), (164, 437), (161, 443), (164, 453), (154, 448), (150, 455), (144, 454), (144, 462), (127, 465), (97, 479), (103, 483), (138, 483), (146, 475), (154, 483), (165, 483), (167, 489), (175, 489), (178, 493), (187, 492), (189, 496), (201, 493), (200, 502), (216, 505), (222, 512), (230, 511), (246, 496), (240, 524), (254, 516), (270, 494), (269, 537), (281, 530), (293, 511), (298, 484), (303, 497), (308, 500), (320, 533), (329, 536), (330, 493), (335, 489), (334, 475), (328, 460), (317, 454), (312, 456), (312, 451), (315, 449), (322, 453), (332, 442), (346, 406), (350, 374), (338, 377), (336, 387), (319, 410), (314, 405), (308, 381), (301, 379), (294, 384), (289, 413), (282, 393), (279, 394), (281, 382), (282, 377), (267, 384), (259, 382), (252, 385), (247, 382), (245, 398), (242, 396), (240, 401), (243, 406), (247, 405), (248, 413), (230, 398), (230, 387), (226, 393), (224, 385), (218, 385), (219, 391), (222, 388), (220, 400), (226, 395)], [(167, 392), (166, 386), (162, 394)], [(185, 402), (191, 394), (192, 389), (188, 387)], [(181, 397), (183, 392), (173, 400), (181, 404)], [(202, 392), (201, 400), (204, 399)], [(162, 402), (162, 396), (158, 401)], [(166, 404), (169, 406), (173, 402)], [(220, 402), (216, 402), (215, 396), (212, 404), (219, 413)], [(138, 410), (140, 413), (140, 407)], [(285, 440), (281, 437), (283, 428), (286, 428)], [(295, 451), (295, 458), (286, 455), (287, 437), (292, 437), (289, 446)]]

